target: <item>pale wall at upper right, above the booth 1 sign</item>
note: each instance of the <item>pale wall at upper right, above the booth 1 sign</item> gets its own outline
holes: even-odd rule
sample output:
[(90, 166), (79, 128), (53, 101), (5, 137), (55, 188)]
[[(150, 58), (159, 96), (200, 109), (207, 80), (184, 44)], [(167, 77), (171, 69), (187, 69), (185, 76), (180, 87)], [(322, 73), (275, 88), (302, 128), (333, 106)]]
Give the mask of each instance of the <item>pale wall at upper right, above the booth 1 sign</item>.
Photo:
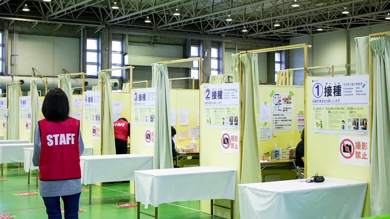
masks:
[[(371, 33), (386, 32), (390, 30), (390, 24), (371, 26), (364, 28), (355, 28), (347, 31), (330, 32), (313, 35), (310, 37), (298, 37), (290, 40), (290, 45), (307, 43), (312, 45), (308, 49), (308, 67), (320, 65), (345, 65), (347, 63), (347, 53), (350, 54), (351, 64), (355, 64), (355, 37), (365, 37)], [(350, 50), (347, 51), (347, 40), (350, 43)], [(290, 68), (303, 67), (303, 50), (290, 50)], [(328, 70), (315, 70), (316, 76), (328, 75)], [(345, 67), (335, 68), (335, 76), (346, 74)], [(351, 74), (355, 74), (355, 67), (351, 67)], [(294, 72), (294, 84), (300, 84), (303, 80), (303, 71)]]

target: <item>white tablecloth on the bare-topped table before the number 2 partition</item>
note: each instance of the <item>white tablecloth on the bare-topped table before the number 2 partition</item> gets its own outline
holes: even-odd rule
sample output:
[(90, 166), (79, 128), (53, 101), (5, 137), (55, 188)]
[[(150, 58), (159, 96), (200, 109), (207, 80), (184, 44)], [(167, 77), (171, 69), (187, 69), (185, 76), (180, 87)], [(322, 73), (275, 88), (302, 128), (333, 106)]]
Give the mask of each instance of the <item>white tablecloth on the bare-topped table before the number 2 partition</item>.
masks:
[(148, 207), (174, 201), (234, 200), (236, 170), (196, 166), (135, 171), (135, 200)]

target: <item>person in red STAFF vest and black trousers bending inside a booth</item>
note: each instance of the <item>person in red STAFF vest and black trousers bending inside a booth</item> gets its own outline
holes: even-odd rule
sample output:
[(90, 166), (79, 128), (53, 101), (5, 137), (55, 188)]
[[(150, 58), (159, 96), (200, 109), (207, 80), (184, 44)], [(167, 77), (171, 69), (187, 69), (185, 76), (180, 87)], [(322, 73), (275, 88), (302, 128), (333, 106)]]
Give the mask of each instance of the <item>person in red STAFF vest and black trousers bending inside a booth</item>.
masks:
[(120, 118), (114, 123), (115, 151), (117, 154), (127, 154), (127, 138), (130, 137), (130, 123), (126, 118)]

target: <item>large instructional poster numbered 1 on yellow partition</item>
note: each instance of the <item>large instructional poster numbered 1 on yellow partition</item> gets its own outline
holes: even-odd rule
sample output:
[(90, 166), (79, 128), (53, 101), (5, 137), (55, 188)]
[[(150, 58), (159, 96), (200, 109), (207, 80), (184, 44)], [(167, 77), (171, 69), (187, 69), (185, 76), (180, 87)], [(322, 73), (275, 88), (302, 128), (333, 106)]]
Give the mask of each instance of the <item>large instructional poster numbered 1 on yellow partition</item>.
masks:
[(369, 135), (369, 76), (312, 80), (312, 131)]

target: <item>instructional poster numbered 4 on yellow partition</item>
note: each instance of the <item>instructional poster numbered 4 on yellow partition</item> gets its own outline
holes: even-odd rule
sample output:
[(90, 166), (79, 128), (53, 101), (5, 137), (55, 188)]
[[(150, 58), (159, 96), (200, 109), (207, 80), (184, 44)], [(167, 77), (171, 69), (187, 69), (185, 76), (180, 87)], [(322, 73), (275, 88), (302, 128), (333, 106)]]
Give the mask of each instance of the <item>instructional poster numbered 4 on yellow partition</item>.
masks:
[(87, 123), (100, 123), (101, 102), (99, 91), (87, 91), (83, 93), (83, 121)]

